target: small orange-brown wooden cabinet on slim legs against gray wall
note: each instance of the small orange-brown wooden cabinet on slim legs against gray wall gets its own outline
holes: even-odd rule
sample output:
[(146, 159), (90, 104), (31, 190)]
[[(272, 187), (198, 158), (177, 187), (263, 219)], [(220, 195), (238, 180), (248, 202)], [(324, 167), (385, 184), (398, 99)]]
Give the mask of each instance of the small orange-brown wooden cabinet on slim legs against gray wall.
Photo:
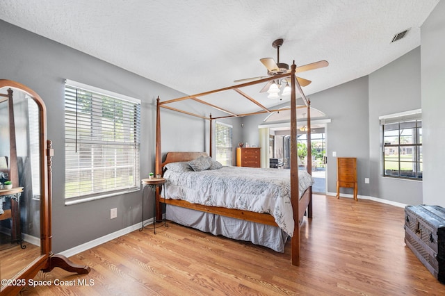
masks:
[(354, 199), (357, 200), (357, 158), (337, 158), (337, 198), (340, 197), (340, 187), (354, 188)]

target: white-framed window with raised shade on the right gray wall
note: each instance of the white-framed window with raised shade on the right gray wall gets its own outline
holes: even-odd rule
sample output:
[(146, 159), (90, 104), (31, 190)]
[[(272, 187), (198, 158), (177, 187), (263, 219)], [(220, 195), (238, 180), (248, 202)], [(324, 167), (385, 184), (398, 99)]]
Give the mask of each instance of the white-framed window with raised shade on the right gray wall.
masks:
[(383, 131), (383, 176), (422, 179), (421, 111), (380, 117)]

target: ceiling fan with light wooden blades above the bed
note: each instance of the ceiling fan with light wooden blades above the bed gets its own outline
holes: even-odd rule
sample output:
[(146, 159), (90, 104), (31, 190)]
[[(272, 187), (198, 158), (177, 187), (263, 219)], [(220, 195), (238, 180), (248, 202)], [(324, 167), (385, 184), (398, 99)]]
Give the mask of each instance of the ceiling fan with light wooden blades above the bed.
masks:
[[(234, 82), (249, 81), (249, 80), (255, 80), (255, 79), (264, 79), (264, 78), (267, 78), (270, 76), (291, 72), (289, 65), (287, 65), (285, 63), (280, 63), (280, 47), (282, 46), (283, 42), (284, 42), (283, 39), (277, 39), (274, 42), (272, 42), (272, 47), (277, 49), (277, 63), (275, 63), (275, 60), (273, 58), (260, 58), (259, 59), (260, 62), (263, 63), (263, 65), (266, 66), (266, 68), (267, 68), (267, 76), (258, 76), (258, 77), (251, 77), (251, 78), (247, 78), (247, 79), (238, 79), (238, 80), (235, 80)], [(307, 65), (302, 65), (302, 66), (296, 67), (296, 73), (305, 72), (305, 71), (309, 71), (312, 69), (318, 69), (321, 67), (327, 67), (327, 65), (329, 65), (329, 63), (327, 63), (326, 60), (319, 60), (318, 62), (315, 62), (315, 63), (310, 63)], [(307, 80), (307, 79), (304, 79), (304, 78), (301, 78), (298, 76), (297, 76), (297, 80), (301, 86), (307, 86), (312, 82), (310, 80)], [(274, 83), (279, 85), (279, 87), (282, 85), (281, 81), (271, 80), (268, 83), (266, 83), (266, 85), (264, 85), (264, 88), (262, 88), (260, 90), (260, 92), (268, 91), (270, 86), (273, 85)], [(288, 84), (290, 83), (290, 78), (286, 79), (286, 83), (288, 83)]]

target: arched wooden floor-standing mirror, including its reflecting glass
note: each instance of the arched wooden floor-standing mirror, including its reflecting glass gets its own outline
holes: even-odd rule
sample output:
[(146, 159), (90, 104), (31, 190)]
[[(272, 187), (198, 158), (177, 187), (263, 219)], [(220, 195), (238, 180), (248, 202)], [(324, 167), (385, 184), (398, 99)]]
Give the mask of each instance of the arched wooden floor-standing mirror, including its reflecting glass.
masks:
[(39, 270), (85, 274), (51, 252), (51, 157), (42, 99), (15, 81), (0, 79), (1, 295), (15, 295)]

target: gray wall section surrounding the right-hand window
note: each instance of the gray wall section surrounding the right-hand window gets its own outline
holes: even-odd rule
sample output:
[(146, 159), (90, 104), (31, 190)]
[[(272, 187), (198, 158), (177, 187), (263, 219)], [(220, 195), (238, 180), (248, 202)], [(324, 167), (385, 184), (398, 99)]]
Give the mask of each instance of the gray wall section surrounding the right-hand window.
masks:
[(382, 176), (382, 133), (378, 118), (421, 108), (420, 64), (418, 47), (369, 75), (370, 194), (402, 204), (422, 203), (422, 181)]

